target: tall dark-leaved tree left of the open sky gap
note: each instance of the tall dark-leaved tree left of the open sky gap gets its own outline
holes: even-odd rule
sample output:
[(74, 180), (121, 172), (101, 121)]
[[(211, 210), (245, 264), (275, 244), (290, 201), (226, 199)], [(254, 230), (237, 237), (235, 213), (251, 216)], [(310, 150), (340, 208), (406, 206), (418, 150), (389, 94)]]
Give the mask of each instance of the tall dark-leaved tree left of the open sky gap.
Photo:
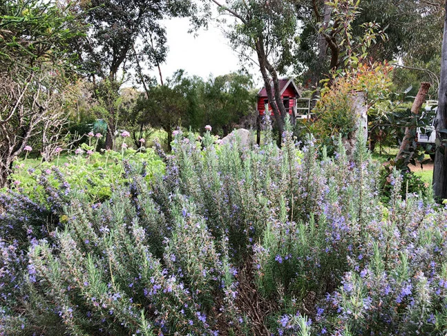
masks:
[(86, 12), (89, 26), (87, 39), (78, 48), (83, 68), (95, 87), (107, 81), (102, 88), (113, 91), (100, 96), (104, 90), (95, 90), (105, 105), (106, 147), (111, 148), (118, 118), (114, 99), (125, 75), (135, 70), (137, 81), (146, 86), (149, 77), (144, 69), (166, 59), (166, 30), (161, 20), (193, 16), (196, 8), (190, 0), (90, 0), (81, 1), (79, 8)]

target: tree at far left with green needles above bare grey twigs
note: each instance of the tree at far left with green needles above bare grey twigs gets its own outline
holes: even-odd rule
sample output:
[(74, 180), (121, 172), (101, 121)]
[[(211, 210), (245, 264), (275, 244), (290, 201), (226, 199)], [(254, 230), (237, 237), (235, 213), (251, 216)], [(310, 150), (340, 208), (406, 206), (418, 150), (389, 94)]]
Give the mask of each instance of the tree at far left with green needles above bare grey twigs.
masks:
[(14, 157), (42, 129), (56, 129), (67, 115), (81, 35), (70, 6), (37, 0), (0, 4), (0, 186)]

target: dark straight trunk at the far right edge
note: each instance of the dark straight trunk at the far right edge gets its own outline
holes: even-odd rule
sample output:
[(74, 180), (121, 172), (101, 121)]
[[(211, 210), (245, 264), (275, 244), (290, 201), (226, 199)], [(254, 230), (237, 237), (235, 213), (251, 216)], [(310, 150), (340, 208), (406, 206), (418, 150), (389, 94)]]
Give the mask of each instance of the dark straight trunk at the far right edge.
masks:
[(444, 36), (441, 52), (441, 81), (439, 83), (438, 106), (435, 119), (436, 150), (433, 169), (433, 191), (441, 201), (447, 198), (447, 0), (445, 3)]

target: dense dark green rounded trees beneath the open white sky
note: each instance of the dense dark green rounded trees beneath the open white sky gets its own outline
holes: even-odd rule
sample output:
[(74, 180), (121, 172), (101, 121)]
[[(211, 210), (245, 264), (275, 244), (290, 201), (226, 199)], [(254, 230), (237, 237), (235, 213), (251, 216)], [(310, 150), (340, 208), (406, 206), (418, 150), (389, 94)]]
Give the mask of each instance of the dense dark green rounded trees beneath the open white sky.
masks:
[(255, 102), (248, 75), (232, 73), (205, 82), (179, 70), (166, 85), (153, 85), (140, 94), (128, 120), (135, 140), (151, 127), (161, 127), (168, 133), (170, 145), (175, 127), (200, 130), (212, 125), (213, 132), (228, 134), (241, 118), (254, 113)]

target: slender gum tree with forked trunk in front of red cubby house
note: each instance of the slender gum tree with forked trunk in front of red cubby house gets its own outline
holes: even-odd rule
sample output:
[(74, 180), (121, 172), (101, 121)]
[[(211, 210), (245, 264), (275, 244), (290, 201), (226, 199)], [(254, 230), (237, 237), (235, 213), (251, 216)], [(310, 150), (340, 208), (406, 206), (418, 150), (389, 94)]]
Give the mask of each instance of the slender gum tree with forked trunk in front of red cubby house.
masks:
[(293, 3), (281, 0), (225, 3), (204, 0), (204, 3), (208, 6), (205, 10), (210, 11), (212, 3), (225, 17), (221, 22), (228, 24), (226, 35), (241, 60), (254, 61), (259, 66), (265, 87), (271, 88), (267, 90), (268, 102), (281, 136), (287, 112), (281, 100), (279, 78), (292, 62), (298, 32)]

